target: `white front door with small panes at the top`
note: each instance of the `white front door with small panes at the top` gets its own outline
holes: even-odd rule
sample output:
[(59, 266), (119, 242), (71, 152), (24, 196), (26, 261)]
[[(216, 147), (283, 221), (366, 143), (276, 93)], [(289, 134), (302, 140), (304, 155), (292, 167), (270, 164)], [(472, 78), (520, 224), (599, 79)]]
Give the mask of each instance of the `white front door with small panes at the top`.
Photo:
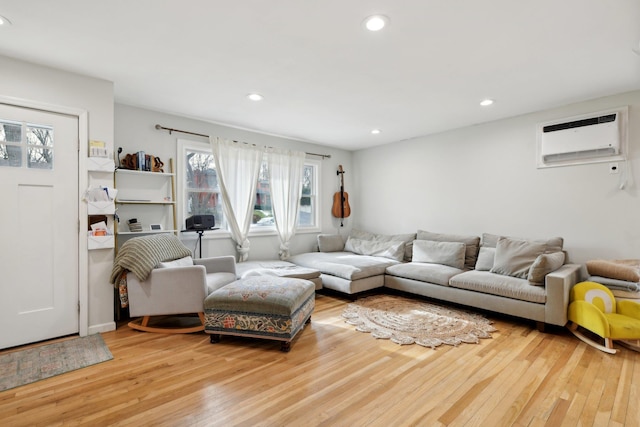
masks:
[(74, 334), (78, 118), (0, 104), (0, 349)]

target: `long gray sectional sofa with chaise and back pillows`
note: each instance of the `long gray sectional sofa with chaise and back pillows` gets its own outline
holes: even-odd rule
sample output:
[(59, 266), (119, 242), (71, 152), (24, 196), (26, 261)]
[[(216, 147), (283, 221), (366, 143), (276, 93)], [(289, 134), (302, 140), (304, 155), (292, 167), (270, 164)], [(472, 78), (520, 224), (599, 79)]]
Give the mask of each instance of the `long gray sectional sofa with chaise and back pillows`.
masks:
[(563, 239), (418, 230), (319, 235), (318, 252), (290, 262), (321, 272), (323, 287), (346, 294), (387, 287), (442, 301), (564, 326), (580, 265), (565, 264)]

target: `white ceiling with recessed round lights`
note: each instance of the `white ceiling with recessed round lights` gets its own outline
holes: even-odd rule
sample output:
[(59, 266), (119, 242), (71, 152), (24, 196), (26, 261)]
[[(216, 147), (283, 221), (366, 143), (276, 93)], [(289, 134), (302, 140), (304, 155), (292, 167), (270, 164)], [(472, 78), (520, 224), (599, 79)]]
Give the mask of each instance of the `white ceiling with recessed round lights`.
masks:
[[(365, 30), (372, 14), (388, 26)], [(640, 89), (638, 0), (2, 0), (0, 15), (0, 55), (113, 81), (118, 103), (347, 150)]]

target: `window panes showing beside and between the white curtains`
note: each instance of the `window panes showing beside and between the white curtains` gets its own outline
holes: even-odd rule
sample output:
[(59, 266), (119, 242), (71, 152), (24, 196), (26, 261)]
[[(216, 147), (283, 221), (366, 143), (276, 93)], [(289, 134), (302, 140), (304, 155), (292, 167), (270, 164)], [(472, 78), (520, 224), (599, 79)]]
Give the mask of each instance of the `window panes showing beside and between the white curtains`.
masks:
[[(179, 140), (178, 151), (181, 160), (178, 162), (178, 183), (180, 188), (181, 221), (192, 215), (211, 214), (216, 218), (216, 227), (226, 228), (222, 211), (222, 197), (218, 186), (215, 161), (209, 144)], [(182, 168), (181, 168), (182, 166)], [(302, 197), (298, 229), (300, 231), (317, 231), (318, 228), (318, 178), (320, 163), (317, 160), (306, 160), (303, 171)], [(275, 227), (271, 207), (269, 189), (269, 173), (266, 162), (260, 166), (252, 231), (269, 231)]]

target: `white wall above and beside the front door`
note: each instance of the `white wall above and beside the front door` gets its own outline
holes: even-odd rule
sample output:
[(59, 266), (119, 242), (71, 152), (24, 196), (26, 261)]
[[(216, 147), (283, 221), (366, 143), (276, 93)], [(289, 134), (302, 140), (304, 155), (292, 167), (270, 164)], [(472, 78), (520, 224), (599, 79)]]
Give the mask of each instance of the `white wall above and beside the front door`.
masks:
[[(86, 111), (89, 139), (102, 140), (109, 149), (113, 147), (112, 82), (0, 56), (0, 96), (12, 98), (18, 105), (37, 103), (54, 109), (60, 107)], [(88, 155), (88, 141), (81, 141), (81, 147), (84, 149), (80, 150), (79, 178), (80, 185), (86, 186), (87, 171), (86, 166), (85, 169), (82, 166)], [(108, 177), (104, 181), (106, 184), (110, 182)], [(79, 198), (84, 190), (78, 189)], [(80, 220), (82, 229), (86, 229), (86, 216), (81, 216)], [(81, 254), (81, 262), (89, 264), (86, 268), (88, 277), (80, 277), (81, 287), (88, 281), (88, 332), (113, 329), (113, 287), (109, 284), (113, 251), (90, 251), (86, 256)], [(84, 326), (81, 325), (81, 330)]]

